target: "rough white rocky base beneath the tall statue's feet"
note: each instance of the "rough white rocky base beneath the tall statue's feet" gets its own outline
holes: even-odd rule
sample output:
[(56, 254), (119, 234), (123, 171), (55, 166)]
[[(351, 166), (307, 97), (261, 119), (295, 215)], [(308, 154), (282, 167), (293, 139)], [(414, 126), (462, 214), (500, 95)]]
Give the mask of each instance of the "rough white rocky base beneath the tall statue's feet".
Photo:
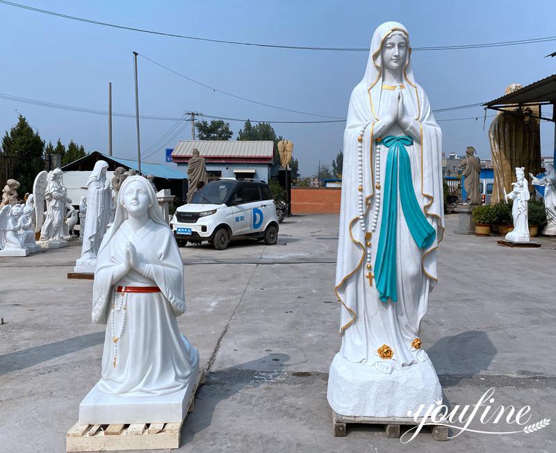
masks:
[(421, 404), (442, 401), (439, 378), (427, 358), (390, 374), (354, 363), (339, 352), (328, 378), (328, 403), (334, 412), (352, 417), (408, 417)]

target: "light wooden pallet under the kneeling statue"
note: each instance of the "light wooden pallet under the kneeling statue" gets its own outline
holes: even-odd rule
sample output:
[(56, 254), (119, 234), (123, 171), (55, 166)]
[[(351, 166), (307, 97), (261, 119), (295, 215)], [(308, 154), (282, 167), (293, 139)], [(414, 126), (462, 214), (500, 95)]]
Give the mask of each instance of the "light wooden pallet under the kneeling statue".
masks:
[[(191, 393), (188, 413), (195, 407), (195, 395), (204, 384), (204, 369), (199, 370)], [(186, 416), (187, 419), (187, 416)], [(66, 452), (106, 452), (111, 450), (156, 450), (179, 448), (181, 423), (131, 423), (126, 425), (79, 425), (66, 434)]]

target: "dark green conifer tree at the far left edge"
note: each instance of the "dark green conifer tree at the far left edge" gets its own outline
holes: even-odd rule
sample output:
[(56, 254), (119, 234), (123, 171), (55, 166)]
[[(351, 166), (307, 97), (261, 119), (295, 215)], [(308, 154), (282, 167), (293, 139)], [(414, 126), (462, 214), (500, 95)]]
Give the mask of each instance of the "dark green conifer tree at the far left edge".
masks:
[(21, 184), (19, 195), (33, 191), (33, 181), (38, 172), (43, 170), (44, 140), (38, 132), (34, 132), (23, 115), (17, 117), (17, 124), (6, 131), (2, 138), (2, 149), (5, 154), (17, 158), (17, 175), (14, 175)]

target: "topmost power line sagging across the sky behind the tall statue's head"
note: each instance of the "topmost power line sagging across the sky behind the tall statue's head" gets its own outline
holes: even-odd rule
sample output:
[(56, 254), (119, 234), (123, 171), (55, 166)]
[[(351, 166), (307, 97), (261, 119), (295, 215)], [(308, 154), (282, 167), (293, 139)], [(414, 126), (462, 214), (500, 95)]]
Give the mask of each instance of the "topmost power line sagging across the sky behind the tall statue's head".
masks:
[[(30, 10), (35, 13), (42, 13), (46, 15), (61, 17), (62, 19), (70, 19), (78, 22), (85, 22), (92, 25), (107, 26), (111, 28), (120, 28), (126, 31), (136, 31), (139, 33), (148, 33), (150, 35), (161, 35), (170, 38), (181, 38), (186, 40), (204, 41), (204, 42), (216, 42), (220, 44), (236, 44), (241, 46), (251, 46), (251, 47), (267, 47), (273, 49), (290, 49), (290, 50), (310, 50), (310, 51), (343, 51), (343, 52), (368, 52), (368, 47), (313, 47), (313, 46), (288, 46), (282, 44), (261, 44), (258, 42), (243, 42), (243, 41), (229, 41), (229, 40), (216, 40), (213, 38), (200, 38), (199, 36), (188, 36), (188, 35), (178, 35), (176, 33), (165, 33), (163, 31), (147, 30), (145, 28), (124, 26), (118, 24), (111, 24), (109, 22), (100, 22), (92, 19), (85, 19), (84, 17), (76, 17), (63, 13), (56, 13), (50, 10), (42, 10), (40, 8), (33, 8), (32, 6), (23, 5), (21, 3), (15, 3), (13, 1), (0, 0), (7, 6), (13, 6), (15, 8), (22, 8), (24, 10)], [(527, 40), (514, 40), (514, 41), (499, 41), (499, 42), (483, 42), (478, 44), (459, 44), (453, 46), (428, 46), (428, 47), (413, 47), (413, 51), (440, 51), (440, 50), (459, 50), (459, 49), (482, 49), (485, 47), (506, 47), (506, 46), (516, 46), (521, 44), (534, 44), (537, 42), (549, 42), (556, 41), (556, 36), (545, 36), (543, 38), (530, 38)]]

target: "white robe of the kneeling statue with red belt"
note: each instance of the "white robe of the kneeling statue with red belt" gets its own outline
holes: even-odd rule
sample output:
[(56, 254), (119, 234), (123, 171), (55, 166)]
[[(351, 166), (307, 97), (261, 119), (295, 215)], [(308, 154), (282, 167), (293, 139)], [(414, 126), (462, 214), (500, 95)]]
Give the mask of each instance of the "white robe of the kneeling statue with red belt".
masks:
[[(148, 263), (148, 277), (131, 269), (113, 282), (115, 267), (125, 260), (127, 242), (136, 247), (139, 261)], [(117, 341), (114, 366), (111, 313), (115, 313), (116, 336), (124, 313), (111, 305), (122, 297), (115, 292), (117, 286), (158, 286), (161, 291), (127, 293), (126, 323)], [(168, 227), (149, 220), (134, 233), (123, 222), (101, 245), (92, 307), (92, 321), (107, 323), (100, 390), (130, 396), (164, 395), (187, 386), (198, 356), (178, 330), (176, 316), (186, 310), (184, 293), (183, 263)]]

